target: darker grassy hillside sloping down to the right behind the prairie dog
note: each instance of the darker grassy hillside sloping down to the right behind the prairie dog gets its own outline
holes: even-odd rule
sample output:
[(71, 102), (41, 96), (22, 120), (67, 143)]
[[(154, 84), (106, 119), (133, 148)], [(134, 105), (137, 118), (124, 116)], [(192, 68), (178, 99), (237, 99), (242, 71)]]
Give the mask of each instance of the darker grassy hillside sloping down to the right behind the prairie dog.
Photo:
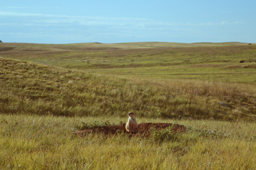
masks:
[[(148, 81), (0, 58), (0, 113), (256, 119), (252, 85)], [(220, 102), (228, 104), (227, 107)]]

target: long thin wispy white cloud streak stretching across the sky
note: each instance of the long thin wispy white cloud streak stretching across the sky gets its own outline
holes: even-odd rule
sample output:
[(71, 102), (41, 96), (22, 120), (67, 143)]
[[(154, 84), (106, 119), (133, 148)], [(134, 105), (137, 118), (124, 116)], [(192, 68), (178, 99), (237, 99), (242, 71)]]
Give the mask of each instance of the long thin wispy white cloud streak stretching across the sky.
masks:
[(61, 23), (76, 23), (82, 26), (136, 26), (136, 27), (149, 27), (149, 26), (223, 26), (223, 25), (236, 25), (240, 24), (239, 21), (229, 22), (202, 22), (202, 23), (172, 23), (172, 22), (159, 22), (147, 18), (108, 18), (108, 17), (89, 17), (89, 16), (67, 16), (67, 15), (51, 15), (51, 14), (36, 14), (36, 13), (13, 13), (0, 11), (0, 16), (14, 16), (14, 17), (40, 17), (31, 19), (32, 22), (47, 23), (47, 24), (61, 24)]

